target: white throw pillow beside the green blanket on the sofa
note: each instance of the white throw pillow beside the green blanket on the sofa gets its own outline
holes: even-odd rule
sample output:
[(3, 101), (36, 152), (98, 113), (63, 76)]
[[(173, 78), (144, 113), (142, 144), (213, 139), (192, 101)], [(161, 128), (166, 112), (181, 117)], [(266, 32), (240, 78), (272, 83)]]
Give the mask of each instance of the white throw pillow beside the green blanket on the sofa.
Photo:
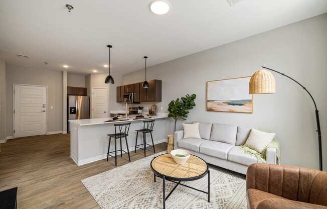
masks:
[(244, 146), (262, 154), (263, 150), (270, 144), (275, 135), (274, 133), (266, 133), (252, 129)]

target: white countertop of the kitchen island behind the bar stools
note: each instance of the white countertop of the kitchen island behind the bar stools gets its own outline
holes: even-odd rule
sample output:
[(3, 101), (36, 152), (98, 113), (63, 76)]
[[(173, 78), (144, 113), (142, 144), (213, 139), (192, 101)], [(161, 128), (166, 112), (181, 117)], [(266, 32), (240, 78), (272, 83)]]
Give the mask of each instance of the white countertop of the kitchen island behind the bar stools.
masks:
[[(99, 125), (99, 124), (112, 124), (112, 123), (128, 123), (128, 122), (136, 122), (136, 121), (144, 121), (151, 119), (162, 119), (168, 118), (168, 113), (157, 113), (156, 116), (144, 116), (145, 118), (134, 120), (135, 117), (128, 117), (128, 120), (119, 121), (119, 119), (125, 119), (125, 117), (121, 117), (116, 121), (109, 121), (112, 118), (94, 118), (94, 119), (82, 119), (82, 120), (70, 120), (69, 123), (74, 123), (77, 126), (90, 126), (90, 125)], [(151, 118), (148, 118), (151, 117)]]

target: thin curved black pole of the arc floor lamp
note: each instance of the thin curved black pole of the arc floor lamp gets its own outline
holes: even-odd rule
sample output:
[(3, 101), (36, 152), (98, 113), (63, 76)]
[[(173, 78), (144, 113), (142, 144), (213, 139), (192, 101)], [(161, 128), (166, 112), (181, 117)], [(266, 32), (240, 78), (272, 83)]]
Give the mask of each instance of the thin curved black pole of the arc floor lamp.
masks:
[(313, 101), (313, 104), (314, 104), (314, 108), (315, 108), (315, 119), (317, 121), (317, 130), (316, 131), (318, 132), (319, 170), (322, 170), (321, 130), (320, 130), (319, 111), (317, 110), (317, 106), (315, 104), (315, 101), (314, 101), (311, 93), (301, 83), (297, 82), (296, 80), (294, 80), (293, 78), (289, 77), (288, 75), (285, 75), (284, 73), (278, 72), (277, 70), (273, 70), (273, 69), (270, 69), (268, 67), (263, 67), (263, 66), (261, 66), (261, 67), (264, 68), (264, 69), (271, 70), (271, 71), (274, 71), (276, 73), (279, 73), (279, 74), (281, 74), (283, 76), (288, 77), (289, 79), (291, 79), (295, 83), (299, 84), (310, 95), (310, 97), (311, 97), (311, 99)]

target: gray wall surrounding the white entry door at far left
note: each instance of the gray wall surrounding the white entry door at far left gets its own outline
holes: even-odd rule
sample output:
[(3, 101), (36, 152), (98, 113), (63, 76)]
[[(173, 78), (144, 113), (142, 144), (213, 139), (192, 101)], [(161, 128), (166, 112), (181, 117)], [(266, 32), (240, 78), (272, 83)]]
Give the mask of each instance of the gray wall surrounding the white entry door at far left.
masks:
[[(62, 131), (63, 75), (62, 71), (7, 65), (7, 135), (13, 133), (13, 84), (48, 86), (47, 132)], [(53, 109), (50, 109), (53, 106)]]

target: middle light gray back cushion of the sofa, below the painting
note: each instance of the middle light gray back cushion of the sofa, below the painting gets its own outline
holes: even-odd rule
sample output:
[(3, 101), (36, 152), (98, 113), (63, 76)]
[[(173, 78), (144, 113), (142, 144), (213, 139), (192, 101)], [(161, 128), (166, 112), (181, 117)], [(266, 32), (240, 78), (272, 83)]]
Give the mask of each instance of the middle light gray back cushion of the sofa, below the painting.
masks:
[(237, 126), (212, 124), (210, 140), (235, 145)]

